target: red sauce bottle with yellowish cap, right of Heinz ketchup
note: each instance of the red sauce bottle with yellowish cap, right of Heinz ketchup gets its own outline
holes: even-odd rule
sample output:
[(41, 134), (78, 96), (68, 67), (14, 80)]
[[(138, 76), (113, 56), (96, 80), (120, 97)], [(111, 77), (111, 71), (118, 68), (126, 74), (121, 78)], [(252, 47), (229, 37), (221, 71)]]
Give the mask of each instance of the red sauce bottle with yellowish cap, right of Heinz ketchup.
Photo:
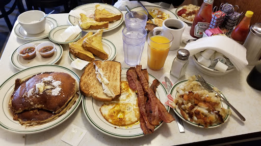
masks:
[(253, 16), (252, 11), (247, 11), (245, 17), (240, 21), (239, 25), (234, 28), (231, 33), (231, 38), (237, 41), (239, 44), (243, 44), (247, 38), (249, 32), (250, 20)]

